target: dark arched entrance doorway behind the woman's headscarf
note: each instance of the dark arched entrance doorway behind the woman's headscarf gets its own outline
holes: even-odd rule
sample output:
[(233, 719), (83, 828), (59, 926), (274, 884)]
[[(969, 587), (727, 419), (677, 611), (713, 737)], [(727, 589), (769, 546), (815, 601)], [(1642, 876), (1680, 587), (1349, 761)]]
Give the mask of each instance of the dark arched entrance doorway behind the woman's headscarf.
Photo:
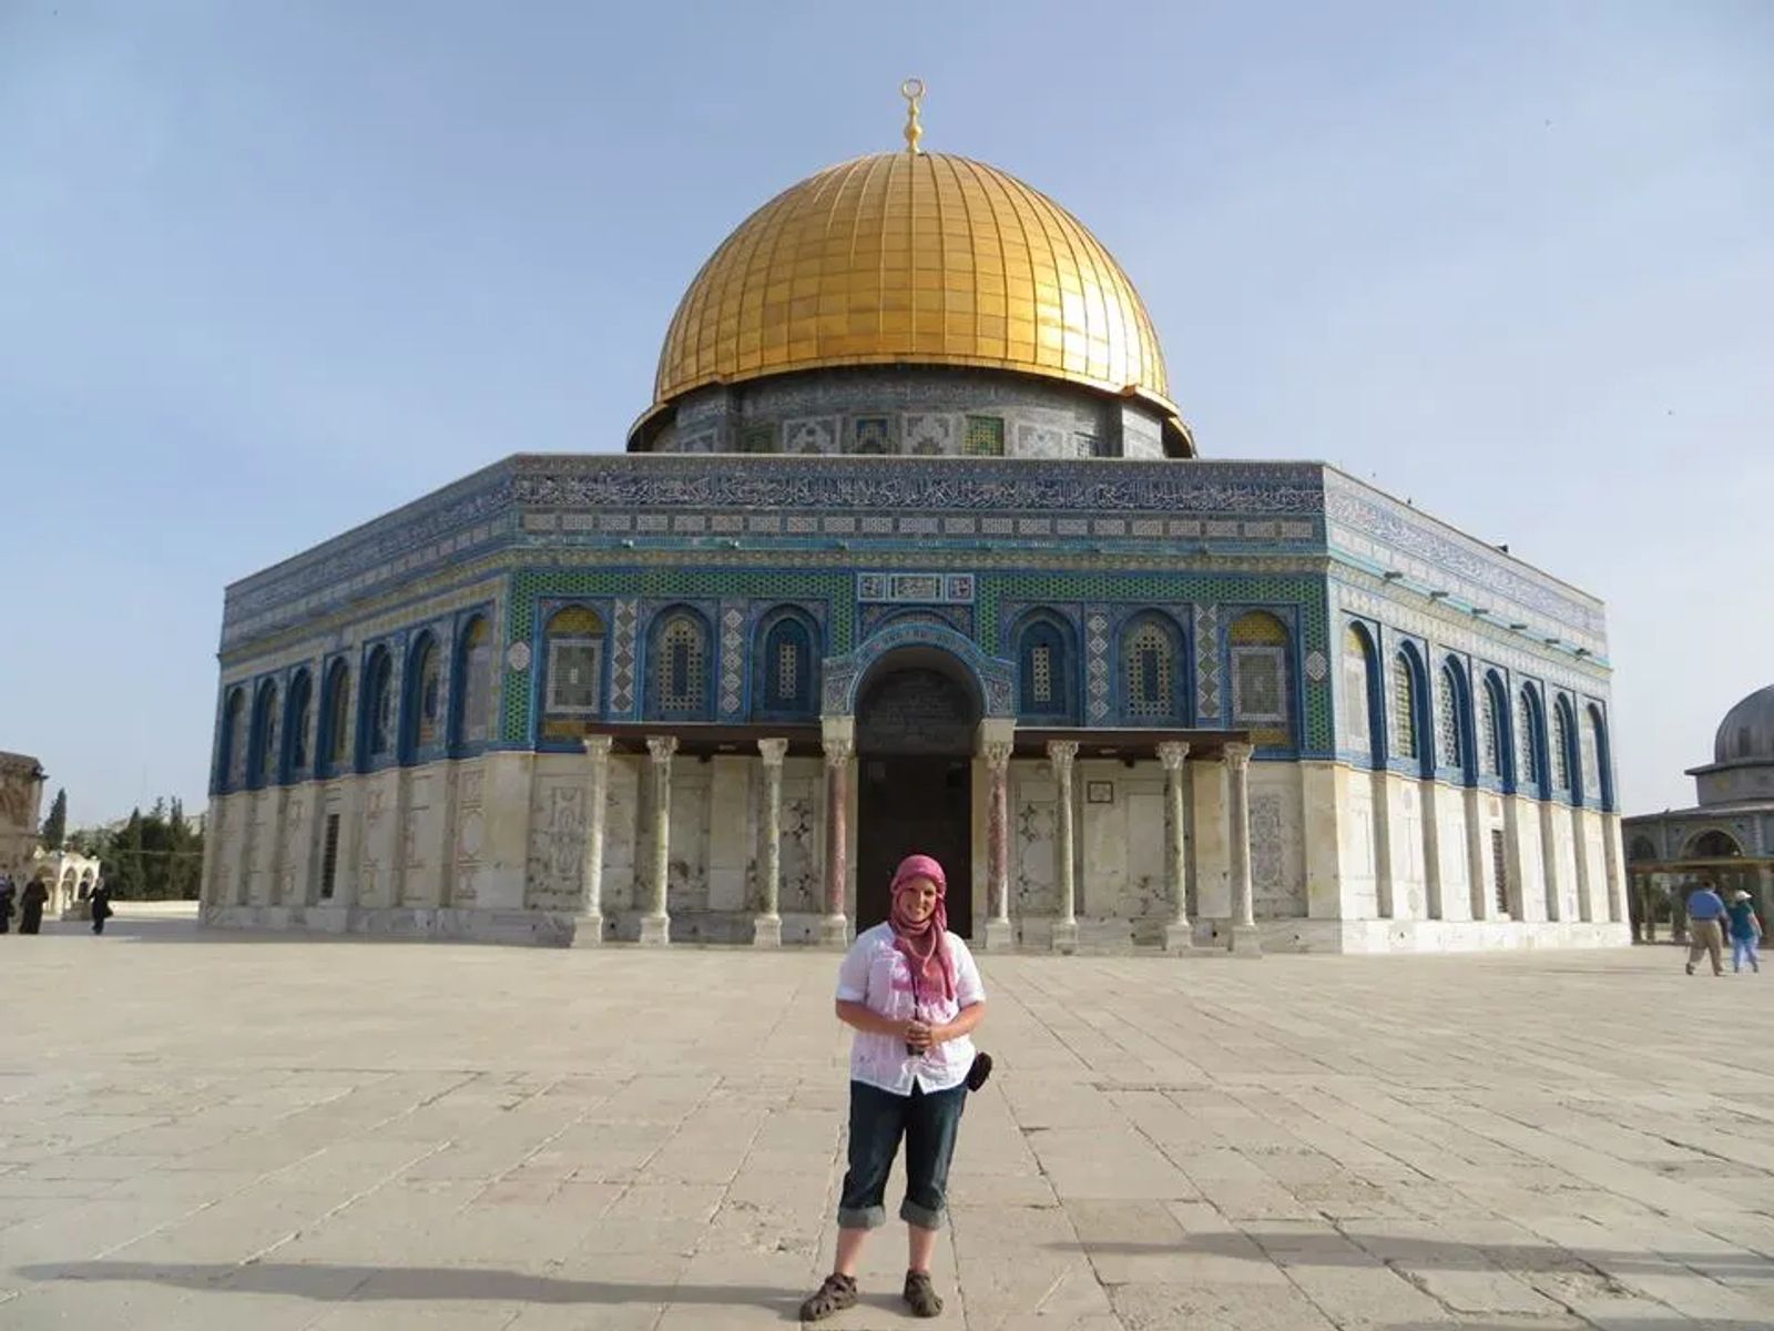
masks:
[[(944, 658), (946, 660), (946, 658)], [(949, 928), (974, 926), (974, 768), (977, 705), (944, 669), (908, 662), (857, 703), (857, 928), (887, 919), (892, 871), (933, 855), (949, 880)]]

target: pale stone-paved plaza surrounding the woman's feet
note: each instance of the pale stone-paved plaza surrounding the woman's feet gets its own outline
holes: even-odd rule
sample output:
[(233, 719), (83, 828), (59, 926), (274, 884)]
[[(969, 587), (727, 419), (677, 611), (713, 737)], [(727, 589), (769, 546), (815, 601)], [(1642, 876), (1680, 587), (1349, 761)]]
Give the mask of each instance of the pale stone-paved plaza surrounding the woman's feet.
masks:
[[(836, 955), (124, 910), (0, 937), (0, 1327), (781, 1326), (830, 1260)], [(1774, 974), (983, 967), (933, 1326), (1774, 1326)], [(830, 1326), (910, 1326), (903, 1258)]]

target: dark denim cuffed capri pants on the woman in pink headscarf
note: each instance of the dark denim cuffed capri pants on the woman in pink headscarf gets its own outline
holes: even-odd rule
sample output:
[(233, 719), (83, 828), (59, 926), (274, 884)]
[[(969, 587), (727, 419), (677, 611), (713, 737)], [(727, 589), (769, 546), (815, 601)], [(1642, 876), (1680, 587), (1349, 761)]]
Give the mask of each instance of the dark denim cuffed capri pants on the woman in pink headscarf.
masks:
[(837, 1225), (875, 1230), (887, 1223), (882, 1200), (887, 1175), (905, 1138), (905, 1201), (899, 1219), (921, 1230), (940, 1230), (949, 1212), (949, 1159), (962, 1127), (967, 1086), (894, 1095), (860, 1081), (850, 1083), (850, 1168), (837, 1201)]

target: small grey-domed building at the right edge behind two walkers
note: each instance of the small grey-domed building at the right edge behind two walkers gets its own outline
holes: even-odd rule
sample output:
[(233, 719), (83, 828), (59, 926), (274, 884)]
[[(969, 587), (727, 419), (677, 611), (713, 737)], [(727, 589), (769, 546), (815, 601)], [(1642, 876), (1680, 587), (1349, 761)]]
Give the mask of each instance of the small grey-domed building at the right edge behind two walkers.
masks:
[(1680, 928), (1682, 900), (1701, 882), (1726, 896), (1746, 891), (1758, 910), (1774, 903), (1774, 685), (1724, 713), (1712, 761), (1687, 774), (1692, 807), (1625, 820), (1632, 919), (1644, 939), (1666, 898)]

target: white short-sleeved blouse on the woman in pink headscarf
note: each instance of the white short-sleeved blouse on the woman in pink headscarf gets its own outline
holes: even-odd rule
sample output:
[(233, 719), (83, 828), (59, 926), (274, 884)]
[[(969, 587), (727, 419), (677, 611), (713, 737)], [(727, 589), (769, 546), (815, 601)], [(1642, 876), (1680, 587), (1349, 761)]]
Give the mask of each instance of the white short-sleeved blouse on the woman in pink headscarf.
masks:
[[(843, 965), (837, 967), (837, 999), (862, 1003), (892, 1020), (917, 1017), (931, 1026), (954, 1020), (962, 1008), (985, 1003), (986, 990), (979, 983), (979, 967), (967, 944), (949, 933), (949, 957), (954, 958), (954, 997), (919, 994), (914, 1003), (912, 967), (894, 948), (892, 926), (866, 928), (850, 944)], [(946, 1091), (967, 1079), (974, 1063), (972, 1036), (946, 1040), (924, 1054), (908, 1054), (905, 1040), (894, 1035), (855, 1031), (850, 1042), (850, 1077), (894, 1095), (910, 1095), (917, 1084), (926, 1091)]]

